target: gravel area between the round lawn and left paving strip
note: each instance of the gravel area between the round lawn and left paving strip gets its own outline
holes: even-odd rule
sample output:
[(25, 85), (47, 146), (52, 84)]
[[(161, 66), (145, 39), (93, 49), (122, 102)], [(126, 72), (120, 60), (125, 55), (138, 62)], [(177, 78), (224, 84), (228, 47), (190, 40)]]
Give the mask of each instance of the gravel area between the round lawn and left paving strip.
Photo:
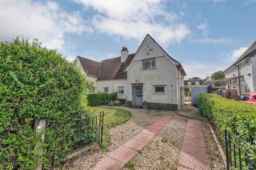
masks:
[(174, 111), (133, 109), (125, 108), (123, 106), (112, 106), (112, 108), (120, 108), (131, 111), (132, 116), (126, 123), (117, 125), (114, 128), (110, 128), (109, 131), (112, 143), (108, 146), (108, 148), (101, 149), (100, 147), (96, 147), (95, 149), (87, 151), (79, 157), (66, 162), (59, 169), (88, 170), (110, 151), (113, 151), (121, 144), (124, 144), (126, 141), (133, 138), (133, 136), (141, 132), (141, 130), (148, 127), (161, 116), (176, 115)]

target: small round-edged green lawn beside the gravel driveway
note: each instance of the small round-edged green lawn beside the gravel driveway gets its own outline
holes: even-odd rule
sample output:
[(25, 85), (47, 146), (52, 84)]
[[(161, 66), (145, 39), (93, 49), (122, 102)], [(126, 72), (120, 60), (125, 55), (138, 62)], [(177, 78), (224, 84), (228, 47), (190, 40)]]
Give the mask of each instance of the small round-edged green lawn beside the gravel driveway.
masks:
[(129, 111), (117, 108), (92, 107), (91, 110), (104, 111), (104, 127), (115, 127), (127, 119)]

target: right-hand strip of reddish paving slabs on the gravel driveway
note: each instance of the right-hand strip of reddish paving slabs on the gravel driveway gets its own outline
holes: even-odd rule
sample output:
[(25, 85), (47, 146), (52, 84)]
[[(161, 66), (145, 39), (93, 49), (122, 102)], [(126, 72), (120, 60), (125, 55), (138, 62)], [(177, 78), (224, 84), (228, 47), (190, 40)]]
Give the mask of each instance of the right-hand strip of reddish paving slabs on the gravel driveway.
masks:
[(204, 134), (200, 121), (189, 119), (183, 139), (177, 170), (210, 170)]

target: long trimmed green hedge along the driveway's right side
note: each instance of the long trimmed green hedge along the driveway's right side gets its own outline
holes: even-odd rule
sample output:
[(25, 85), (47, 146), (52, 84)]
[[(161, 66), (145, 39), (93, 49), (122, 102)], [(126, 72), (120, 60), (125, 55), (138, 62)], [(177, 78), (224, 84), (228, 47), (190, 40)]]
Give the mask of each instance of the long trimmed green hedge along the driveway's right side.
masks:
[[(239, 132), (241, 136), (256, 136), (256, 104), (226, 99), (218, 94), (199, 94), (197, 106), (202, 114), (216, 123), (223, 137), (225, 128)], [(254, 148), (255, 144), (256, 140), (252, 145)], [(255, 151), (251, 150), (251, 153), (256, 157)]]

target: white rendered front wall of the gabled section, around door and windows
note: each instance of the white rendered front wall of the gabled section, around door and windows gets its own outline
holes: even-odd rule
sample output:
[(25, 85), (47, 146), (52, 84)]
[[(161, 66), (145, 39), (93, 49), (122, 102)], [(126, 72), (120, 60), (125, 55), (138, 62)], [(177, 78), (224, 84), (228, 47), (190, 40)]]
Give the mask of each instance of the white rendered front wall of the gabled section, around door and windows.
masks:
[[(137, 81), (136, 81), (137, 80)], [(132, 101), (132, 85), (143, 84), (143, 101), (156, 103), (178, 103), (177, 66), (165, 56), (156, 58), (156, 68), (142, 70), (142, 60), (135, 60), (127, 72), (127, 100)], [(154, 93), (154, 85), (165, 85), (165, 94)]]

